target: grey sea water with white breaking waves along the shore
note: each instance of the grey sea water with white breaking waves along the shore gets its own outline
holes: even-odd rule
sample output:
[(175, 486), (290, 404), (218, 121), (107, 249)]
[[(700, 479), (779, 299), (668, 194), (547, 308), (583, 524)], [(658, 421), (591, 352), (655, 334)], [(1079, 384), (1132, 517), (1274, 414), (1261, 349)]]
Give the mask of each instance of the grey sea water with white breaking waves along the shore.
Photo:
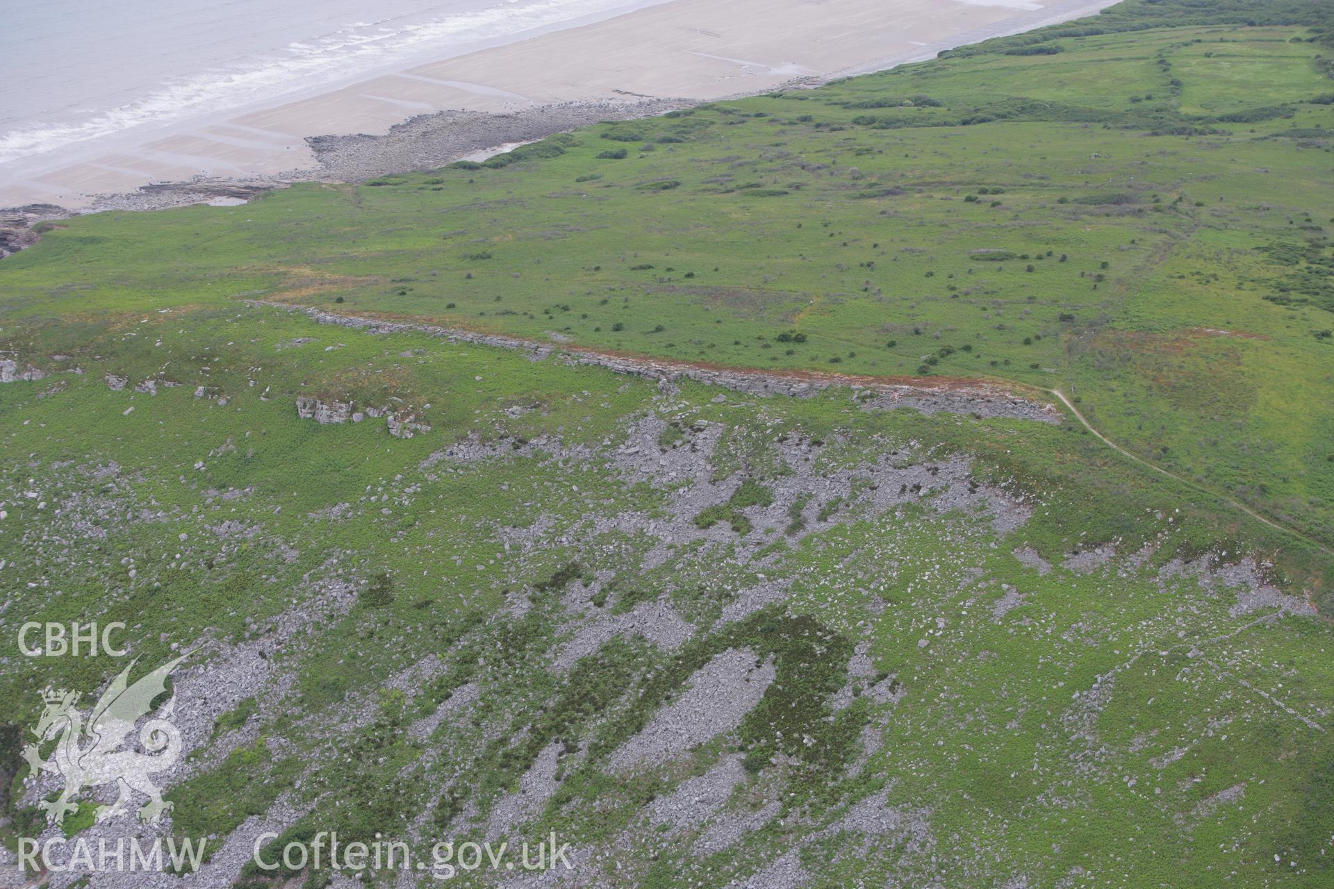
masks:
[(635, 0), (43, 0), (0, 9), (3, 164), (504, 43)]

